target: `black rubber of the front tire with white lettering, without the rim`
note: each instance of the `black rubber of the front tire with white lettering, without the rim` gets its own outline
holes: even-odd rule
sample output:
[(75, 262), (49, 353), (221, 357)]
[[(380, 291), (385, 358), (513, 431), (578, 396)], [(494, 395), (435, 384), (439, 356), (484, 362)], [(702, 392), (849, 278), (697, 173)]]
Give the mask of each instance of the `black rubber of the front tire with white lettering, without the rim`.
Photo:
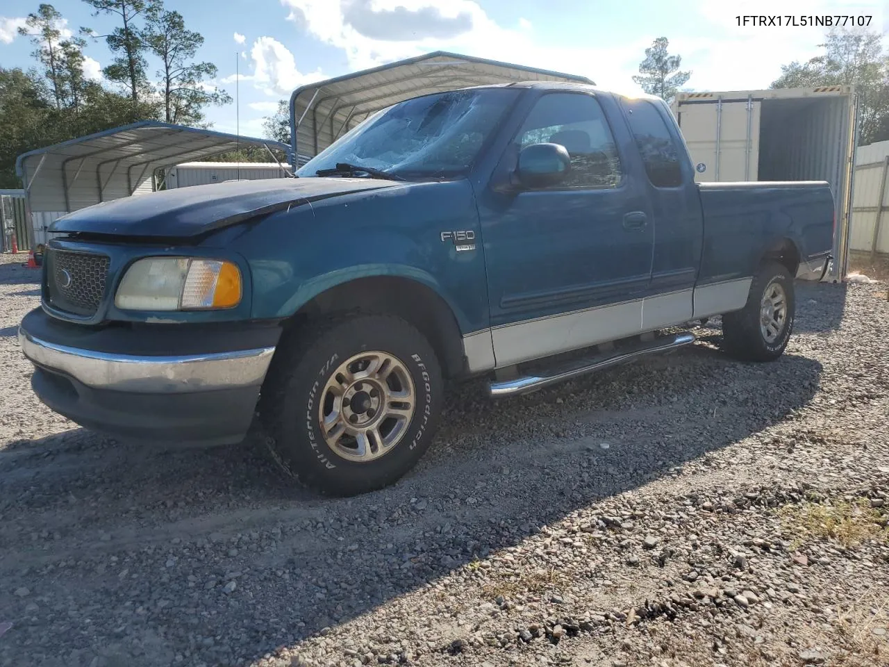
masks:
[[(404, 383), (412, 384), (414, 391), (413, 412), (385, 454), (372, 460), (350, 460), (343, 457), (340, 446), (348, 442), (348, 437), (334, 443), (340, 453), (324, 438), (319, 406), (324, 401), (332, 405), (334, 392), (325, 393), (324, 388), (337, 369), (349, 359), (373, 351), (388, 355), (396, 367), (400, 365)], [(364, 384), (364, 388), (368, 386)], [(355, 387), (353, 383), (352, 391)], [(385, 388), (380, 389), (379, 384), (376, 387), (377, 396), (388, 395)], [(262, 391), (260, 418), (268, 450), (286, 474), (320, 494), (356, 495), (393, 484), (420, 460), (435, 434), (443, 392), (444, 380), (435, 351), (414, 326), (400, 317), (352, 313), (309, 322), (286, 336)], [(340, 412), (346, 414), (345, 400), (339, 400)], [(366, 391), (362, 400), (369, 400)], [(380, 416), (382, 410), (378, 405)], [(364, 419), (367, 414), (371, 413), (359, 416)], [(356, 414), (349, 416), (354, 418)], [(343, 417), (342, 421), (348, 420)], [(380, 432), (376, 435), (379, 437)], [(366, 447), (366, 451), (371, 449)], [(382, 451), (379, 442), (377, 451)]]

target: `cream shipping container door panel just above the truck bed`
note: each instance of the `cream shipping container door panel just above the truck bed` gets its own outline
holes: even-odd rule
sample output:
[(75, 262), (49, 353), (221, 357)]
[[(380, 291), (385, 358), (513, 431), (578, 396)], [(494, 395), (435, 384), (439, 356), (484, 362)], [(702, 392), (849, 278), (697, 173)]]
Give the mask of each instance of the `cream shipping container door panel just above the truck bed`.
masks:
[(702, 181), (756, 181), (759, 107), (754, 100), (681, 102), (678, 123)]

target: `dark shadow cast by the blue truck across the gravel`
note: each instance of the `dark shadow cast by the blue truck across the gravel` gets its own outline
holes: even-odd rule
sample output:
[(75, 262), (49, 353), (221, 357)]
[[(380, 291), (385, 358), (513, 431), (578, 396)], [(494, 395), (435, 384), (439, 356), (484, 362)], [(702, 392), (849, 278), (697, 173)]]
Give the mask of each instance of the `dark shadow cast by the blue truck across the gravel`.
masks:
[[(256, 646), (244, 657), (294, 646), (757, 434), (818, 389), (822, 368), (813, 359), (788, 354), (743, 365), (703, 338), (669, 357), (527, 397), (492, 403), (480, 383), (465, 385), (449, 398), (420, 465), (395, 486), (357, 498), (294, 491), (255, 440), (136, 449), (70, 430), (10, 443), (0, 450), (0, 515), (14, 520), (0, 526), (0, 573), (27, 566), (34, 580), (15, 585), (33, 587), (41, 568), (65, 559), (92, 564), (156, 550), (151, 567), (163, 570), (174, 554), (176, 566), (160, 579), (124, 582), (109, 569), (81, 581), (68, 568), (41, 585), (101, 589), (121, 605), (149, 592), (170, 600), (152, 617), (164, 652), (185, 650), (189, 636), (244, 632)], [(43, 532), (54, 542), (33, 542)], [(235, 571), (228, 595), (226, 573)], [(218, 612), (212, 622), (188, 614), (198, 591)], [(256, 619), (249, 627), (231, 611), (232, 596), (248, 596)], [(107, 625), (94, 619), (96, 646), (114, 642), (116, 625), (113, 612)], [(199, 653), (207, 663), (218, 657)]]

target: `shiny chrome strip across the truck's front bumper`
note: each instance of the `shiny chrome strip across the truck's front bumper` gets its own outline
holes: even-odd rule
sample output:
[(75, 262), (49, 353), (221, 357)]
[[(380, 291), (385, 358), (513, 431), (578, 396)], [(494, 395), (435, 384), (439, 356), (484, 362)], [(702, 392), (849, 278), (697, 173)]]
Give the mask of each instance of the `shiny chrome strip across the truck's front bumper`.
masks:
[(19, 328), (19, 343), (36, 366), (67, 374), (87, 387), (144, 394), (255, 387), (274, 347), (180, 357), (140, 357), (80, 350), (46, 342)]

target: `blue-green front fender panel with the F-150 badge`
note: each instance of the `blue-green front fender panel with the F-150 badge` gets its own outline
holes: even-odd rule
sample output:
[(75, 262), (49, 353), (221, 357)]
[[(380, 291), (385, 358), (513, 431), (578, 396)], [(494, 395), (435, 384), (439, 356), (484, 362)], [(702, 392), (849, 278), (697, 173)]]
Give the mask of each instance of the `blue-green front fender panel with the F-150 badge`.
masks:
[[(444, 231), (469, 231), (457, 251)], [(275, 213), (236, 241), (253, 280), (252, 317), (290, 317), (351, 280), (402, 277), (451, 308), (462, 333), (488, 326), (484, 247), (469, 181), (410, 183)]]

